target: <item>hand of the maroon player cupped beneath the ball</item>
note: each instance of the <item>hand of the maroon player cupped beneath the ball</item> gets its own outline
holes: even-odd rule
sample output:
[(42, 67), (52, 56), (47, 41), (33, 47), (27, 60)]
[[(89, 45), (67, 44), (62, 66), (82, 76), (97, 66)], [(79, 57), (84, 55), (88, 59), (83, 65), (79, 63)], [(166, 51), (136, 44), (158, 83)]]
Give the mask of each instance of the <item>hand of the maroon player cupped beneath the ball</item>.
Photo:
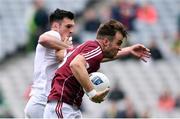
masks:
[(97, 94), (94, 97), (92, 97), (91, 100), (95, 103), (103, 102), (109, 90), (110, 90), (109, 88), (106, 88), (104, 91), (97, 92)]

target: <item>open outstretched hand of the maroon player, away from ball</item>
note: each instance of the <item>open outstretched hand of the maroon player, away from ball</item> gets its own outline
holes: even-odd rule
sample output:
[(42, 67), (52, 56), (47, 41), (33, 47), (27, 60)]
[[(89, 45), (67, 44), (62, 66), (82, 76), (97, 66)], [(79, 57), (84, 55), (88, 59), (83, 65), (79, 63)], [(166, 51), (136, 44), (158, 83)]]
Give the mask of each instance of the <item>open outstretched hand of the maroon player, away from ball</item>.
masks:
[(130, 52), (132, 55), (141, 59), (144, 62), (147, 62), (146, 59), (150, 58), (151, 56), (150, 50), (141, 44), (131, 46)]

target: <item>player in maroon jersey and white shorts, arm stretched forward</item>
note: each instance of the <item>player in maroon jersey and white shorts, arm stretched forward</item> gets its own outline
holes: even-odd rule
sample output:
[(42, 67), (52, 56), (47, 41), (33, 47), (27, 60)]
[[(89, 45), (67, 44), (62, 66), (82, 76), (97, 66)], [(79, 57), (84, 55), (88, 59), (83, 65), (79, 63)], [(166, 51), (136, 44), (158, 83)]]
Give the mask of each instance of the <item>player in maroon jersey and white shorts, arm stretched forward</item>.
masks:
[(68, 52), (53, 79), (44, 117), (82, 117), (76, 106), (81, 105), (83, 89), (91, 101), (104, 101), (109, 88), (96, 91), (89, 80), (89, 73), (96, 72), (101, 62), (112, 61), (129, 54), (144, 61), (144, 58), (150, 56), (149, 49), (141, 44), (121, 49), (120, 46), (126, 37), (127, 31), (124, 26), (116, 20), (110, 20), (100, 25), (95, 41), (86, 41)]

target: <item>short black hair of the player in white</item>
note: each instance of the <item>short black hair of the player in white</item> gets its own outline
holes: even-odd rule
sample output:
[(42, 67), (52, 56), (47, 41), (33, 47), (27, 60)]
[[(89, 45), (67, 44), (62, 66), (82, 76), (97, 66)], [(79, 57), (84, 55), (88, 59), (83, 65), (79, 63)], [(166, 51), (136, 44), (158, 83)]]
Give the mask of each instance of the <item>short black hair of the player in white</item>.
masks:
[(74, 19), (74, 14), (70, 11), (65, 11), (65, 10), (61, 10), (61, 9), (56, 9), (53, 13), (51, 13), (50, 17), (49, 17), (49, 21), (50, 21), (50, 25), (54, 22), (54, 21), (61, 21), (64, 18), (68, 18), (73, 20)]

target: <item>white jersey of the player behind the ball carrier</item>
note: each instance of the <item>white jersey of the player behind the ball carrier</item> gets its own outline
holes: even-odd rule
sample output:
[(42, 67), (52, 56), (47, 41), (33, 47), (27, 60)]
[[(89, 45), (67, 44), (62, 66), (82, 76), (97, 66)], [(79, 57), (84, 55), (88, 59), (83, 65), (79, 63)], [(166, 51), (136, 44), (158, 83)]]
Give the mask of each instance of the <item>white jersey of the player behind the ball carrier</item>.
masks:
[[(56, 31), (48, 31), (45, 34), (56, 37), (61, 40), (61, 36)], [(48, 49), (41, 44), (36, 47), (34, 60), (34, 79), (30, 96), (36, 97), (36, 102), (47, 103), (47, 96), (51, 89), (51, 82), (58, 68), (58, 60), (54, 49)]]

